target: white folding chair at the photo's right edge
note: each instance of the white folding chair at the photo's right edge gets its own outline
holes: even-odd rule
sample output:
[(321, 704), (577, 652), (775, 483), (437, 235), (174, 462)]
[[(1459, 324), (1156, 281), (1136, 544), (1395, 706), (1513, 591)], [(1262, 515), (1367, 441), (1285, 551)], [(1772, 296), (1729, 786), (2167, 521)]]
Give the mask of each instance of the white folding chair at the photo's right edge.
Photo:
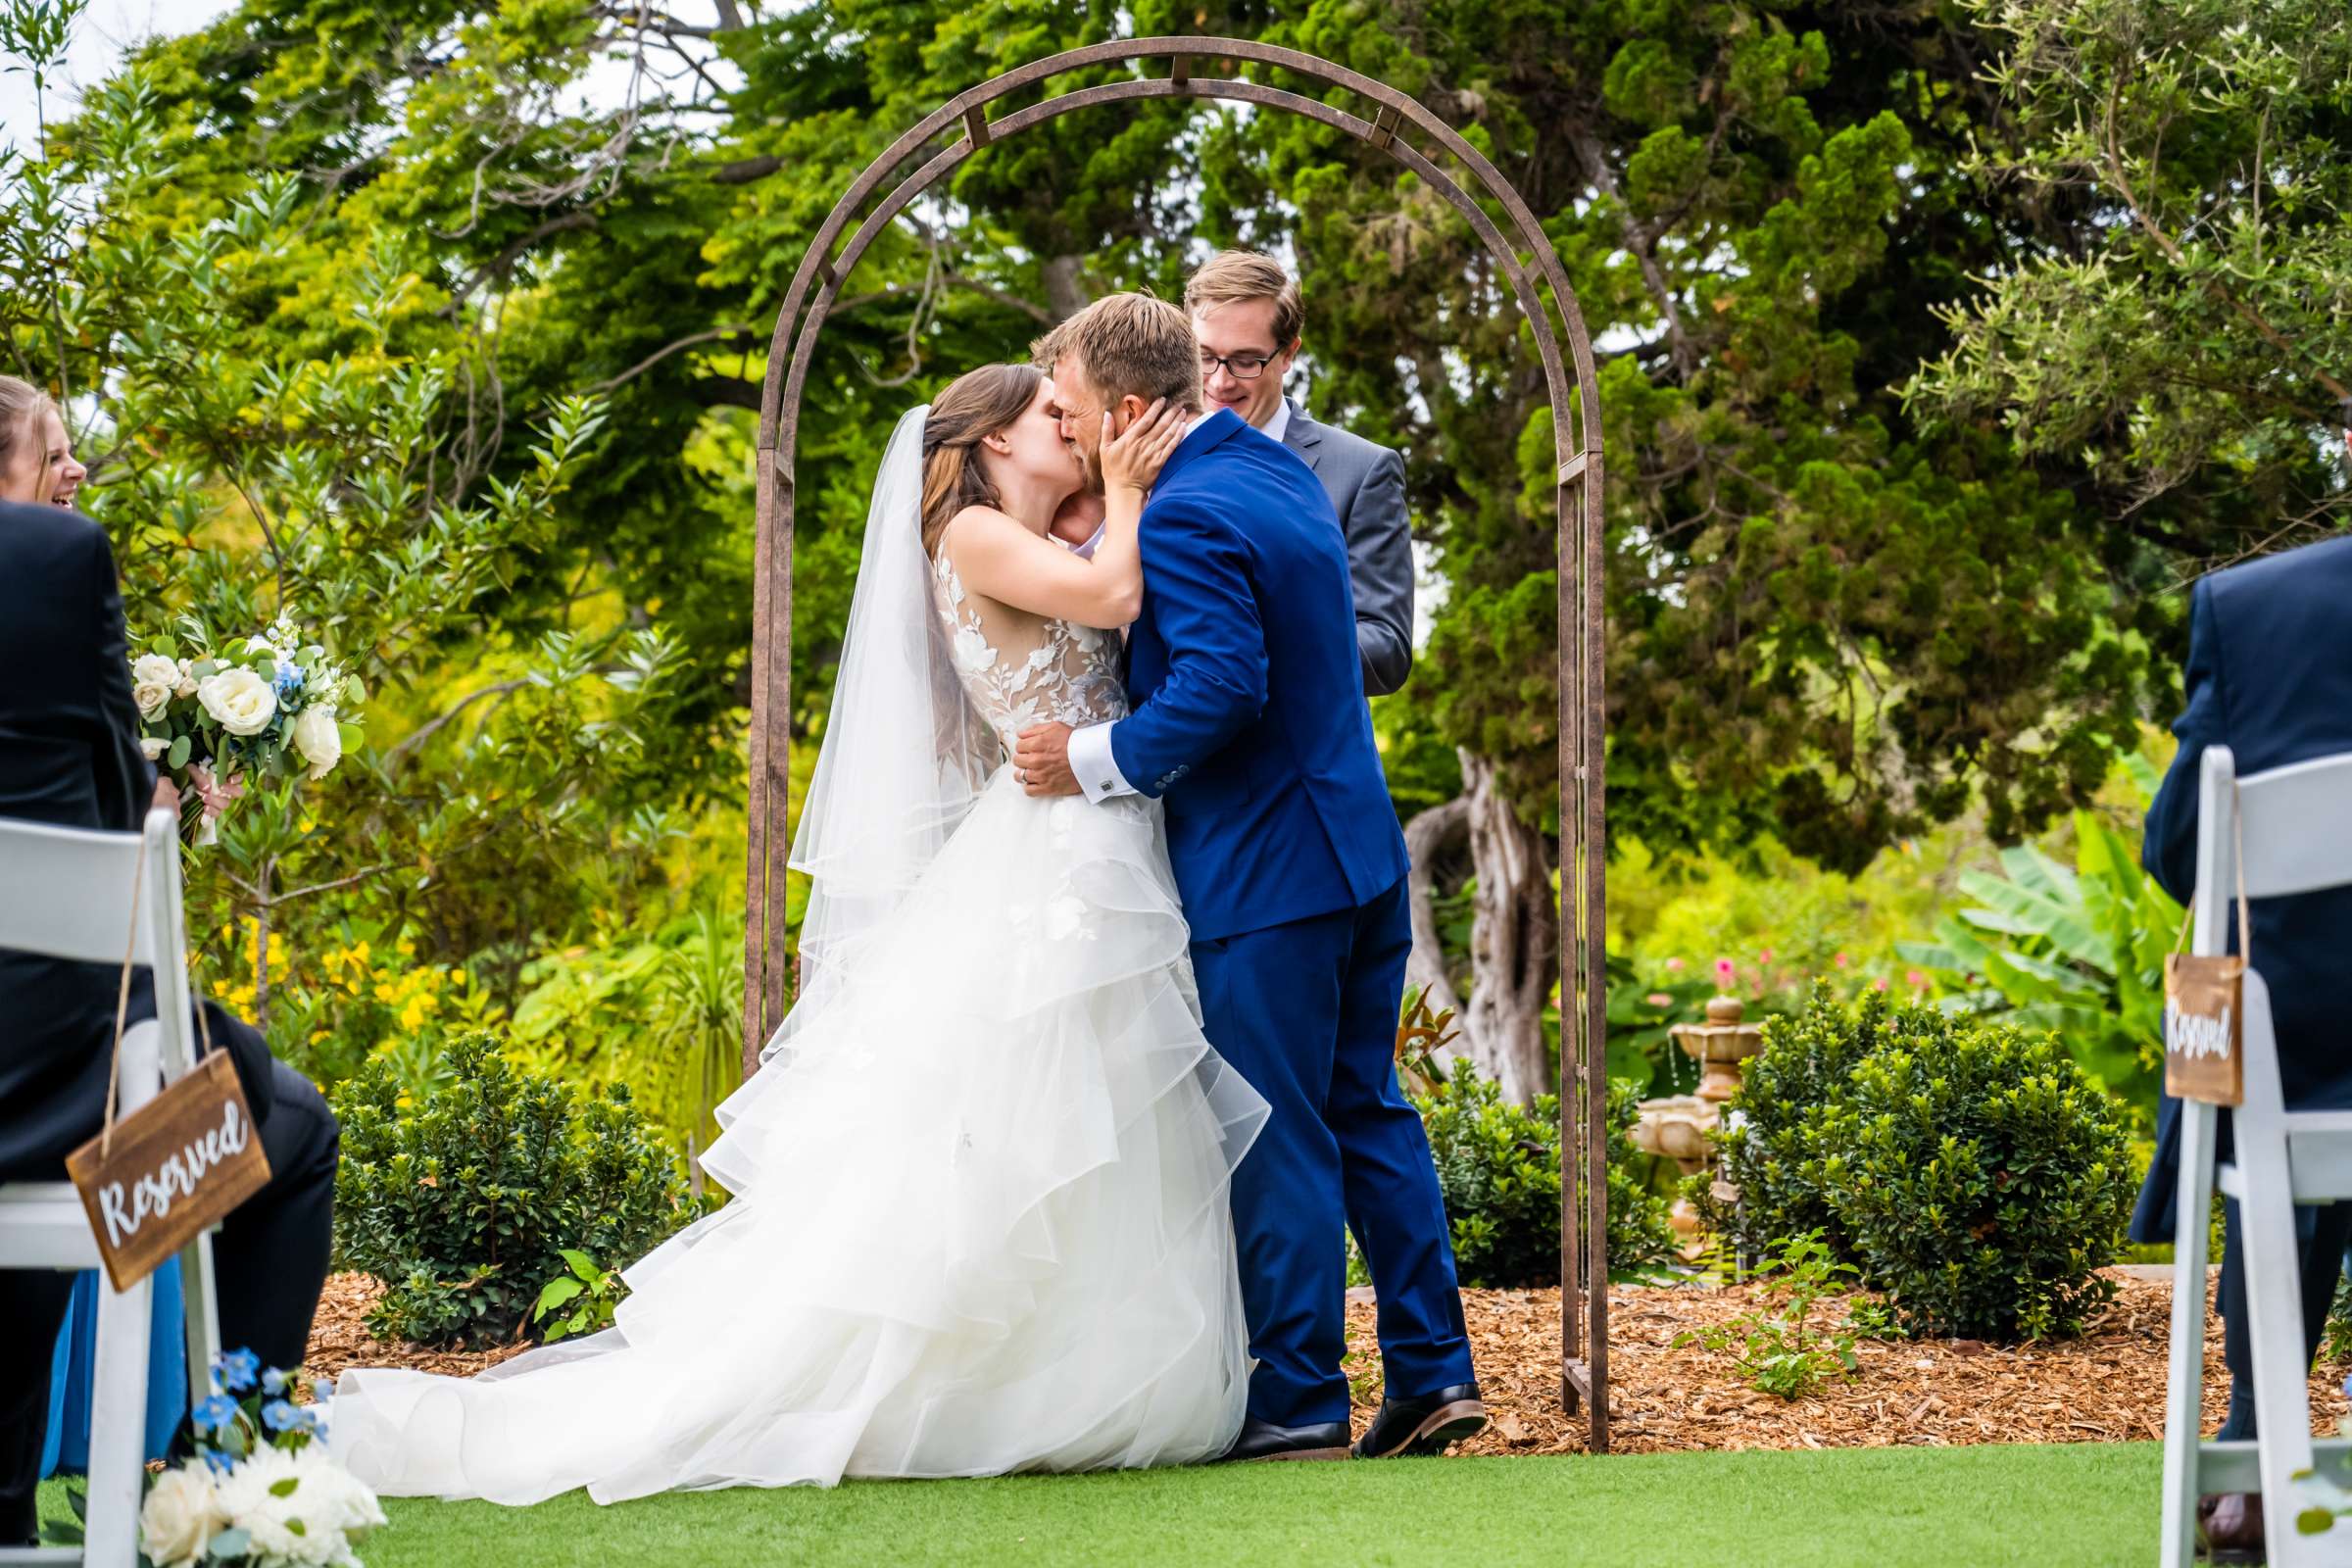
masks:
[[(2249, 900), (2352, 884), (2352, 752), (2237, 778), (2230, 748), (2206, 748), (2197, 792), (2199, 954), (2227, 952), (2239, 842)], [(2190, 1568), (2199, 1495), (2251, 1490), (2263, 1493), (2263, 1540), (2272, 1568), (2352, 1563), (2352, 1519), (2319, 1535), (2296, 1533), (2303, 1507), (2336, 1509), (2352, 1500), (2343, 1490), (2352, 1441), (2312, 1441), (2293, 1213), (2296, 1204), (2352, 1199), (2352, 1110), (2284, 1107), (2260, 950), (2251, 959), (2241, 1001), (2246, 1103), (2230, 1112), (2232, 1164), (2213, 1168), (2216, 1107), (2180, 1105), (2180, 1229), (2173, 1241), (2173, 1342), (2164, 1399), (2164, 1568)], [(2352, 954), (2345, 954), (2345, 969), (2352, 978)], [(2340, 1048), (2347, 1041), (2328, 1044)], [(2239, 1204), (2256, 1441), (2199, 1441), (2206, 1225), (2216, 1180)]]

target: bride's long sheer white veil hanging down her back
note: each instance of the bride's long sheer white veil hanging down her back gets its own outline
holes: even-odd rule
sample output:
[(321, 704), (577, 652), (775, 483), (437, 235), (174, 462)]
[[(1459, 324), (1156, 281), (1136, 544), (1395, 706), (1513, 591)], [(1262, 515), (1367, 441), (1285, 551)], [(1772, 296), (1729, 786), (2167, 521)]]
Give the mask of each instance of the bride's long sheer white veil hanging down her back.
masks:
[(849, 632), (793, 870), (809, 875), (800, 997), (762, 1058), (790, 1044), (840, 987), (882, 919), (938, 856), (1002, 762), (948, 651), (922, 552), (922, 425), (908, 409), (882, 454)]

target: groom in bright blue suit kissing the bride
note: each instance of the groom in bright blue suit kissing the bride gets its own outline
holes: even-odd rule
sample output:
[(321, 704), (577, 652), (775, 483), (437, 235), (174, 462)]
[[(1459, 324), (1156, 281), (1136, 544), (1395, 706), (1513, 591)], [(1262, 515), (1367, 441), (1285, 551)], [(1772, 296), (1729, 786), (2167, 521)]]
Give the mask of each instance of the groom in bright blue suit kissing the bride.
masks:
[(1397, 1091), (1411, 947), (1404, 835), (1364, 705), (1348, 543), (1315, 473), (1232, 411), (1202, 418), (1183, 310), (1112, 294), (1047, 334), (1063, 440), (1101, 487), (1115, 430), (1188, 414), (1143, 508), (1134, 712), (1021, 736), (1030, 795), (1167, 802), (1209, 1044), (1272, 1105), (1232, 1175), (1249, 1422), (1225, 1458), (1348, 1455), (1345, 1241), (1378, 1293), (1388, 1399), (1355, 1453), (1442, 1453), (1486, 1425), (1444, 1201)]

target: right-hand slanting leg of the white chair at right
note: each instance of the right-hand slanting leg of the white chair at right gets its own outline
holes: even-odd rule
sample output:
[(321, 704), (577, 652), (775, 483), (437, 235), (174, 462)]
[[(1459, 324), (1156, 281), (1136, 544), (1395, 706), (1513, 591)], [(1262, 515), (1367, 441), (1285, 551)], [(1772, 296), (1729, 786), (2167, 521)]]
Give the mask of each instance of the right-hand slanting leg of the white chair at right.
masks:
[[(2253, 1349), (2253, 1413), (2260, 1432), (2263, 1540), (2274, 1568), (2324, 1561), (2317, 1537), (2296, 1533), (2293, 1476), (2312, 1469), (2312, 1403), (2303, 1361), (2303, 1291), (2286, 1143), (2274, 1128), (2237, 1128), (2244, 1199), (2246, 1342)], [(2340, 1556), (2340, 1554), (2328, 1554)]]

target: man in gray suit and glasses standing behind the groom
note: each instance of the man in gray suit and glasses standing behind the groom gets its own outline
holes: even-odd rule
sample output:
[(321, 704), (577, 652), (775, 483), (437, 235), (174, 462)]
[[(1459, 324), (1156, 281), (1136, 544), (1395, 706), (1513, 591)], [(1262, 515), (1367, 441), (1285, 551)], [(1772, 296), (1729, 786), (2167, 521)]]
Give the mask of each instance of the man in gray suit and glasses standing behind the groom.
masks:
[(1385, 696), (1414, 670), (1414, 527), (1404, 515), (1404, 458), (1362, 435), (1308, 418), (1282, 395), (1298, 360), (1305, 310), (1298, 280), (1272, 256), (1221, 252), (1183, 289), (1200, 339), (1209, 411), (1232, 409), (1315, 470), (1355, 583), (1355, 646), (1364, 693)]

